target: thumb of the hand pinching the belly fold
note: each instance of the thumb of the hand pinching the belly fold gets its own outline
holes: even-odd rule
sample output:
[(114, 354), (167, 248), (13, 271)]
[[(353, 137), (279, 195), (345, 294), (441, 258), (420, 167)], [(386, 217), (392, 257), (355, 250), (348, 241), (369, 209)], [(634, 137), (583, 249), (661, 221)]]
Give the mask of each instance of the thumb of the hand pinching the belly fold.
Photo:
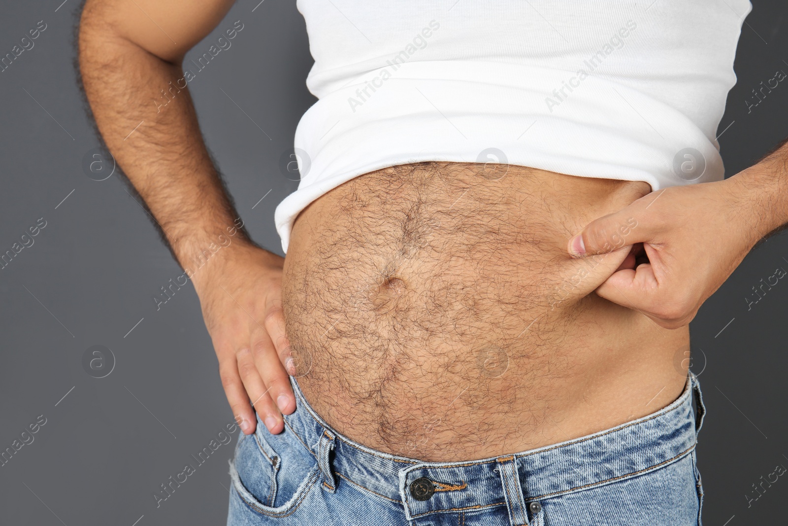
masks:
[(638, 222), (634, 212), (630, 205), (590, 222), (569, 240), (567, 251), (575, 258), (596, 256), (649, 241), (652, 229)]

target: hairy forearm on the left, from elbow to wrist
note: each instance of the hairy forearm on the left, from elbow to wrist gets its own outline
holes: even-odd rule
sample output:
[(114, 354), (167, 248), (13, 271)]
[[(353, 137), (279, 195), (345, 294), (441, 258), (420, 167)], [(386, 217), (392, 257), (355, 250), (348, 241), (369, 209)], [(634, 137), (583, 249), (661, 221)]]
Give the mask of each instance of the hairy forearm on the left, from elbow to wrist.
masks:
[[(180, 61), (162, 60), (88, 18), (80, 28), (80, 71), (99, 132), (181, 265), (237, 226)], [(250, 242), (243, 230), (236, 240)]]

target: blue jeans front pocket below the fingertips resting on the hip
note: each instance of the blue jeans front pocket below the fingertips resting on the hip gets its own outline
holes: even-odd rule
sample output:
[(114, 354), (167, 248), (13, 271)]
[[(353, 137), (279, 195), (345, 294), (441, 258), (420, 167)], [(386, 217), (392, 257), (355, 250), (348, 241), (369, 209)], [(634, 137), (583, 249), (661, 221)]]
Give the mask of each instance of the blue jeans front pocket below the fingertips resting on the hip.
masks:
[(271, 435), (258, 418), (252, 435), (239, 435), (230, 464), (232, 486), (252, 510), (268, 517), (286, 517), (296, 511), (318, 481), (314, 456), (285, 427)]

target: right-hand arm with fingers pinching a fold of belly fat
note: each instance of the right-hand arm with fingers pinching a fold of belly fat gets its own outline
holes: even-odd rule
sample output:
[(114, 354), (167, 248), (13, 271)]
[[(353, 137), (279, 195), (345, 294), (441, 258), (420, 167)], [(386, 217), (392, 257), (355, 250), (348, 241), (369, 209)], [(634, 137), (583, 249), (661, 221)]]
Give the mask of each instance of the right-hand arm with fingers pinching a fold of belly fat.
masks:
[[(626, 218), (637, 226), (623, 236)], [(788, 145), (782, 143), (724, 181), (664, 188), (589, 223), (567, 251), (604, 254), (621, 248), (624, 237), (630, 255), (597, 294), (676, 329), (692, 321), (753, 246), (786, 222)], [(641, 263), (644, 256), (648, 263)]]

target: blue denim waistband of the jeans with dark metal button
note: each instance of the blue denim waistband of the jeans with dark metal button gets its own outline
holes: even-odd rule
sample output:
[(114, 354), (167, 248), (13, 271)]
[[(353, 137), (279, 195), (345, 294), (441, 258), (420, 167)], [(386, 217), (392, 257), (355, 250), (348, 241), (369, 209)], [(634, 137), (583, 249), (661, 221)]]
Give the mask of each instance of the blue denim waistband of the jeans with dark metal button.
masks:
[[(516, 474), (512, 487), (520, 487), (522, 505), (528, 505), (658, 469), (693, 451), (704, 416), (700, 386), (689, 373), (684, 391), (671, 405), (617, 427), (499, 457), (425, 462), (373, 450), (340, 435), (310, 407), (296, 379), (291, 378), (291, 383), (297, 409), (284, 416), (284, 423), (318, 459), (326, 490), (336, 491), (335, 480), (350, 483), (403, 504), (409, 520), (441, 511), (504, 505), (508, 497), (501, 488), (502, 479), (507, 488), (507, 474), (510, 479)], [(426, 500), (415, 498), (411, 491), (417, 479), (433, 482), (434, 493)]]

